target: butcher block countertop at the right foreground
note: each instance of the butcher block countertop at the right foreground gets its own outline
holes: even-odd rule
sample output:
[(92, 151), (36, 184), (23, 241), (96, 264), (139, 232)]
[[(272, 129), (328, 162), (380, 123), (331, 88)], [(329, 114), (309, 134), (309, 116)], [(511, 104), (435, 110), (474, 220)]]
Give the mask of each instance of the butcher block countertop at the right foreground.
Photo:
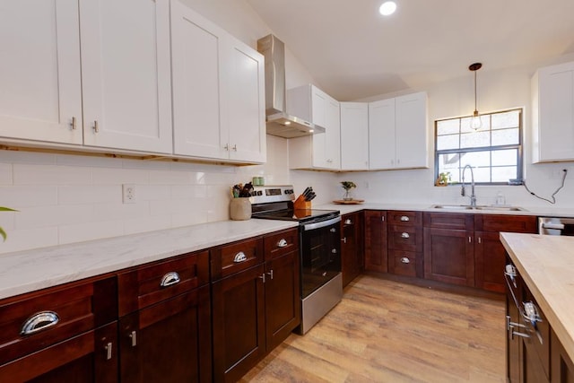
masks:
[(500, 241), (574, 360), (574, 237), (502, 232)]

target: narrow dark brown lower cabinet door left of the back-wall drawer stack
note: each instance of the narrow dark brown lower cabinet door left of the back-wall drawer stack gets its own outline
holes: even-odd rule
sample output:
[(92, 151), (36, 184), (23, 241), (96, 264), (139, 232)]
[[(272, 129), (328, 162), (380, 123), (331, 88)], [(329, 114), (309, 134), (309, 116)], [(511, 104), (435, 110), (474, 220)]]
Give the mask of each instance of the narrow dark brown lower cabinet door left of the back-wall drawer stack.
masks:
[(365, 271), (387, 273), (387, 212), (366, 210), (365, 223)]

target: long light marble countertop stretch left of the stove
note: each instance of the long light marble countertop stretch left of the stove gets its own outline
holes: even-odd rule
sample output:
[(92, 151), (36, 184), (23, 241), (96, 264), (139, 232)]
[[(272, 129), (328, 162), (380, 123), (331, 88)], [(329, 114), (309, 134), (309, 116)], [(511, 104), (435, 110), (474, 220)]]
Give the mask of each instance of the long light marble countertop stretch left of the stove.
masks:
[(0, 256), (0, 299), (297, 227), (257, 220), (203, 223)]

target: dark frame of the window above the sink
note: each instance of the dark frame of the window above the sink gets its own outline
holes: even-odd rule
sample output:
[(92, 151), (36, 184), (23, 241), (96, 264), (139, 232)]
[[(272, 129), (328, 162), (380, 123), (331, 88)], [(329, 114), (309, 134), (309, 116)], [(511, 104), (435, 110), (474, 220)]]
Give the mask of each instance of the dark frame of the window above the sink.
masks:
[[(455, 153), (462, 153), (462, 152), (492, 152), (492, 151), (500, 151), (500, 150), (508, 150), (508, 149), (516, 149), (517, 150), (517, 179), (522, 179), (524, 174), (524, 108), (511, 108), (511, 109), (503, 109), (497, 110), (488, 113), (482, 113), (480, 116), (483, 118), (484, 116), (488, 116), (491, 118), (492, 115), (499, 114), (499, 113), (507, 113), (511, 111), (518, 112), (518, 144), (505, 144), (505, 145), (495, 145), (495, 146), (481, 146), (481, 147), (473, 147), (473, 148), (465, 148), (465, 149), (445, 149), (439, 151), (437, 149), (438, 145), (438, 133), (439, 133), (439, 122), (440, 121), (448, 121), (448, 120), (460, 120), (464, 118), (472, 118), (472, 116), (461, 116), (461, 117), (454, 117), (454, 118), (438, 118), (434, 121), (434, 179), (439, 178), (439, 155), (440, 154), (455, 154)], [(491, 124), (489, 124), (491, 126)], [(460, 137), (461, 133), (458, 132)], [(489, 167), (492, 169), (492, 166)], [(460, 167), (458, 168), (460, 171)], [(511, 185), (509, 182), (475, 182), (476, 185), (481, 186), (500, 186), (500, 185)], [(436, 186), (436, 185), (435, 185)]]

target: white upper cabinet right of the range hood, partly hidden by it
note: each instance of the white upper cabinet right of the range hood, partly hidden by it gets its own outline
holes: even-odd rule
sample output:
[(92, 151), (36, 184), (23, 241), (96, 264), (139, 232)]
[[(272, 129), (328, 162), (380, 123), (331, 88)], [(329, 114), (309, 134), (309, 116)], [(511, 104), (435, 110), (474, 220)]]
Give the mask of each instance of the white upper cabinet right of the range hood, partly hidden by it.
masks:
[(287, 92), (287, 112), (325, 128), (325, 133), (289, 140), (291, 169), (341, 169), (341, 117), (339, 101), (315, 85)]

